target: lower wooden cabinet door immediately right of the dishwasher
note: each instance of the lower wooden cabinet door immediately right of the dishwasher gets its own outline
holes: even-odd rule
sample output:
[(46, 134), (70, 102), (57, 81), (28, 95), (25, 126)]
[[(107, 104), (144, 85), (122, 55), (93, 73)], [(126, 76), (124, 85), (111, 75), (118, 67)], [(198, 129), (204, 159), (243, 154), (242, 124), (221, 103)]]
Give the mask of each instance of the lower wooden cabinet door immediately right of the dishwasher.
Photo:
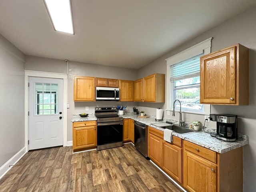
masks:
[(151, 133), (148, 133), (148, 157), (162, 168), (162, 147), (163, 140)]

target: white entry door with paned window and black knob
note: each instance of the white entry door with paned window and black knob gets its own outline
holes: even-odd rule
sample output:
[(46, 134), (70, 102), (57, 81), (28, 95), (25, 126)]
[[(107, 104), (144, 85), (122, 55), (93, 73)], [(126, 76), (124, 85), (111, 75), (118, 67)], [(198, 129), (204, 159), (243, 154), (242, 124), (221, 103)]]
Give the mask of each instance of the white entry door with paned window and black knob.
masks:
[(29, 150), (63, 145), (63, 80), (29, 77)]

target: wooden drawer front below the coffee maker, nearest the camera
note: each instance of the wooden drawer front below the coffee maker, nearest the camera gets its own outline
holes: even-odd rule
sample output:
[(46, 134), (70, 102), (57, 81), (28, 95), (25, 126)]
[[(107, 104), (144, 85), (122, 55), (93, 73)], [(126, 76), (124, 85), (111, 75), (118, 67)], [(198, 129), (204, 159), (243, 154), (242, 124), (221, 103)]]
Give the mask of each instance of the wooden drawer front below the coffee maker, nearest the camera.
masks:
[(184, 141), (184, 149), (213, 163), (217, 163), (217, 154), (212, 150), (206, 149), (188, 141)]

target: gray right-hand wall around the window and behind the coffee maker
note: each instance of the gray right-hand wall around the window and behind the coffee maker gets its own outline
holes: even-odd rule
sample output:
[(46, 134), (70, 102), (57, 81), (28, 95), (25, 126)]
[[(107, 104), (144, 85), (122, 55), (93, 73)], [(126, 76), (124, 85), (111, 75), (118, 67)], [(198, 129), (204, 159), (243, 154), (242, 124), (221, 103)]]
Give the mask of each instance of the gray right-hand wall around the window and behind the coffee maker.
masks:
[[(248, 106), (218, 106), (212, 105), (212, 113), (237, 114), (238, 132), (249, 136), (249, 144), (244, 146), (244, 191), (254, 192), (256, 189), (256, 7), (220, 24), (211, 30), (193, 38), (189, 42), (171, 50), (164, 56), (138, 70), (138, 78), (158, 72), (166, 74), (166, 58), (173, 56), (203, 40), (213, 37), (212, 52), (227, 46), (240, 43), (249, 50), (249, 105)], [(155, 113), (155, 108), (160, 106), (166, 108), (166, 104), (138, 103), (140, 110)], [(165, 117), (167, 113), (164, 113)], [(177, 119), (178, 116), (175, 116)], [(204, 120), (204, 116), (184, 114), (186, 122)], [(209, 124), (207, 124), (209, 125)], [(215, 123), (209, 126), (216, 127)]]

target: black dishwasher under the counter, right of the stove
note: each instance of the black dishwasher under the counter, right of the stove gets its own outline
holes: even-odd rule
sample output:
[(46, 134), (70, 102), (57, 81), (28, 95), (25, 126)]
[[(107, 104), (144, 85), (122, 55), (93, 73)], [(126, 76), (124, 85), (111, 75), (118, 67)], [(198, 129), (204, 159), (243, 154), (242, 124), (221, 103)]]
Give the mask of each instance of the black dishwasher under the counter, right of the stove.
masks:
[(144, 157), (148, 157), (147, 126), (138, 121), (134, 121), (134, 146)]

